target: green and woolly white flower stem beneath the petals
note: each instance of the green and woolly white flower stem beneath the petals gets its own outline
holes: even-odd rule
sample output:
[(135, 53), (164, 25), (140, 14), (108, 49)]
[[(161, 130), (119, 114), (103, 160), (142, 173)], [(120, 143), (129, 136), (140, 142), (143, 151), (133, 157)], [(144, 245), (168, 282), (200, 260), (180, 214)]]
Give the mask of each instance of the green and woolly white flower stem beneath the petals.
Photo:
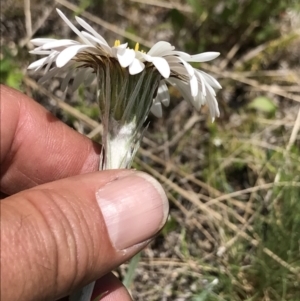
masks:
[[(130, 168), (161, 76), (149, 66), (138, 75), (130, 75), (113, 59), (99, 58), (96, 63), (97, 99), (103, 124), (99, 170)], [(90, 301), (94, 285), (95, 282), (76, 291), (70, 301)]]

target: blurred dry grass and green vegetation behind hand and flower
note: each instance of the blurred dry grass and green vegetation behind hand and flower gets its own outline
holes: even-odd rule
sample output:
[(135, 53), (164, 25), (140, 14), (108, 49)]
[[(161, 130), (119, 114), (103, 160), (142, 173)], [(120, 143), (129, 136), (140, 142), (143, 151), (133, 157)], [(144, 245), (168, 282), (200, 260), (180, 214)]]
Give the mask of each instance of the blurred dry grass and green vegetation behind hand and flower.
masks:
[(300, 2), (1, 0), (1, 83), (99, 140), (92, 91), (65, 95), (59, 80), (41, 86), (26, 72), (33, 36), (74, 38), (55, 7), (111, 44), (221, 52), (195, 64), (223, 86), (215, 123), (172, 88), (164, 118), (149, 117), (135, 167), (164, 185), (171, 211), (117, 271), (134, 300), (300, 300)]

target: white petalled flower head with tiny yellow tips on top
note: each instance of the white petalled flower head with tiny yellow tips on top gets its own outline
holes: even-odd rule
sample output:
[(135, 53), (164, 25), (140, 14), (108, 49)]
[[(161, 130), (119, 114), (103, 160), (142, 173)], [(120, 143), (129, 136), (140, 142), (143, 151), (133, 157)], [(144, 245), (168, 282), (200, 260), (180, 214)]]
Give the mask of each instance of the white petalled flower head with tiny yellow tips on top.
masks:
[[(65, 72), (62, 89), (66, 89), (74, 76), (72, 89), (75, 90), (82, 82), (89, 85), (97, 74), (99, 75), (99, 66), (107, 69), (105, 67), (107, 63), (114, 67), (118, 64), (118, 67), (127, 70), (128, 75), (135, 78), (136, 75), (142, 75), (145, 70), (155, 69), (158, 85), (152, 95), (151, 111), (156, 116), (162, 115), (162, 104), (165, 106), (169, 104), (167, 83), (175, 86), (196, 109), (207, 103), (212, 118), (219, 116), (215, 90), (221, 88), (220, 84), (209, 74), (189, 64), (213, 60), (219, 56), (218, 52), (189, 55), (176, 51), (174, 46), (165, 41), (157, 42), (148, 52), (140, 51), (138, 44), (135, 49), (130, 49), (127, 43), (121, 44), (120, 41), (116, 41), (111, 47), (83, 19), (75, 17), (79, 25), (85, 29), (80, 31), (59, 9), (57, 12), (78, 35), (81, 42), (48, 38), (32, 40), (37, 47), (31, 53), (45, 57), (30, 64), (28, 69), (37, 71), (44, 68), (45, 74), (40, 79), (41, 82)], [(56, 66), (52, 67), (53, 63)]]

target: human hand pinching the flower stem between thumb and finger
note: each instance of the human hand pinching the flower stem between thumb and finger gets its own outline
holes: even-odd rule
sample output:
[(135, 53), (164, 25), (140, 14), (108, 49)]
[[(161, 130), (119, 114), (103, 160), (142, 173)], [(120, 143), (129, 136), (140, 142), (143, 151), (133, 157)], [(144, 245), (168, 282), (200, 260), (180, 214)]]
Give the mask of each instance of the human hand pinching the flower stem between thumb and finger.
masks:
[(110, 271), (165, 223), (162, 187), (133, 170), (97, 172), (98, 144), (0, 89), (0, 299), (56, 300), (100, 278), (93, 297), (131, 300)]

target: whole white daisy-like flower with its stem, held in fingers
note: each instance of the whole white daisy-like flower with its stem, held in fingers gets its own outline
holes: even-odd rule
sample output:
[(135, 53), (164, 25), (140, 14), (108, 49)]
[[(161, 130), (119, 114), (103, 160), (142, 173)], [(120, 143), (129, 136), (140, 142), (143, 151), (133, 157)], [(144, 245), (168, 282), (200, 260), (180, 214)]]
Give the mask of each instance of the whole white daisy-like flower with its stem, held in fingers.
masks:
[[(57, 9), (65, 23), (77, 34), (81, 42), (69, 39), (34, 39), (33, 54), (44, 57), (33, 62), (28, 69), (44, 69), (40, 82), (54, 76), (63, 76), (62, 90), (73, 78), (72, 89), (81, 83), (97, 81), (103, 125), (103, 152), (99, 169), (130, 168), (144, 132), (144, 123), (150, 110), (162, 115), (162, 104), (170, 102), (168, 86), (175, 86), (182, 96), (197, 110), (208, 104), (212, 118), (219, 116), (215, 90), (220, 84), (207, 73), (195, 69), (190, 62), (206, 62), (219, 53), (206, 52), (189, 55), (176, 51), (165, 41), (157, 42), (148, 51), (128, 48), (127, 43), (116, 41), (109, 46), (89, 24), (75, 17), (83, 31), (77, 29)], [(93, 284), (72, 295), (72, 300), (90, 300)]]

